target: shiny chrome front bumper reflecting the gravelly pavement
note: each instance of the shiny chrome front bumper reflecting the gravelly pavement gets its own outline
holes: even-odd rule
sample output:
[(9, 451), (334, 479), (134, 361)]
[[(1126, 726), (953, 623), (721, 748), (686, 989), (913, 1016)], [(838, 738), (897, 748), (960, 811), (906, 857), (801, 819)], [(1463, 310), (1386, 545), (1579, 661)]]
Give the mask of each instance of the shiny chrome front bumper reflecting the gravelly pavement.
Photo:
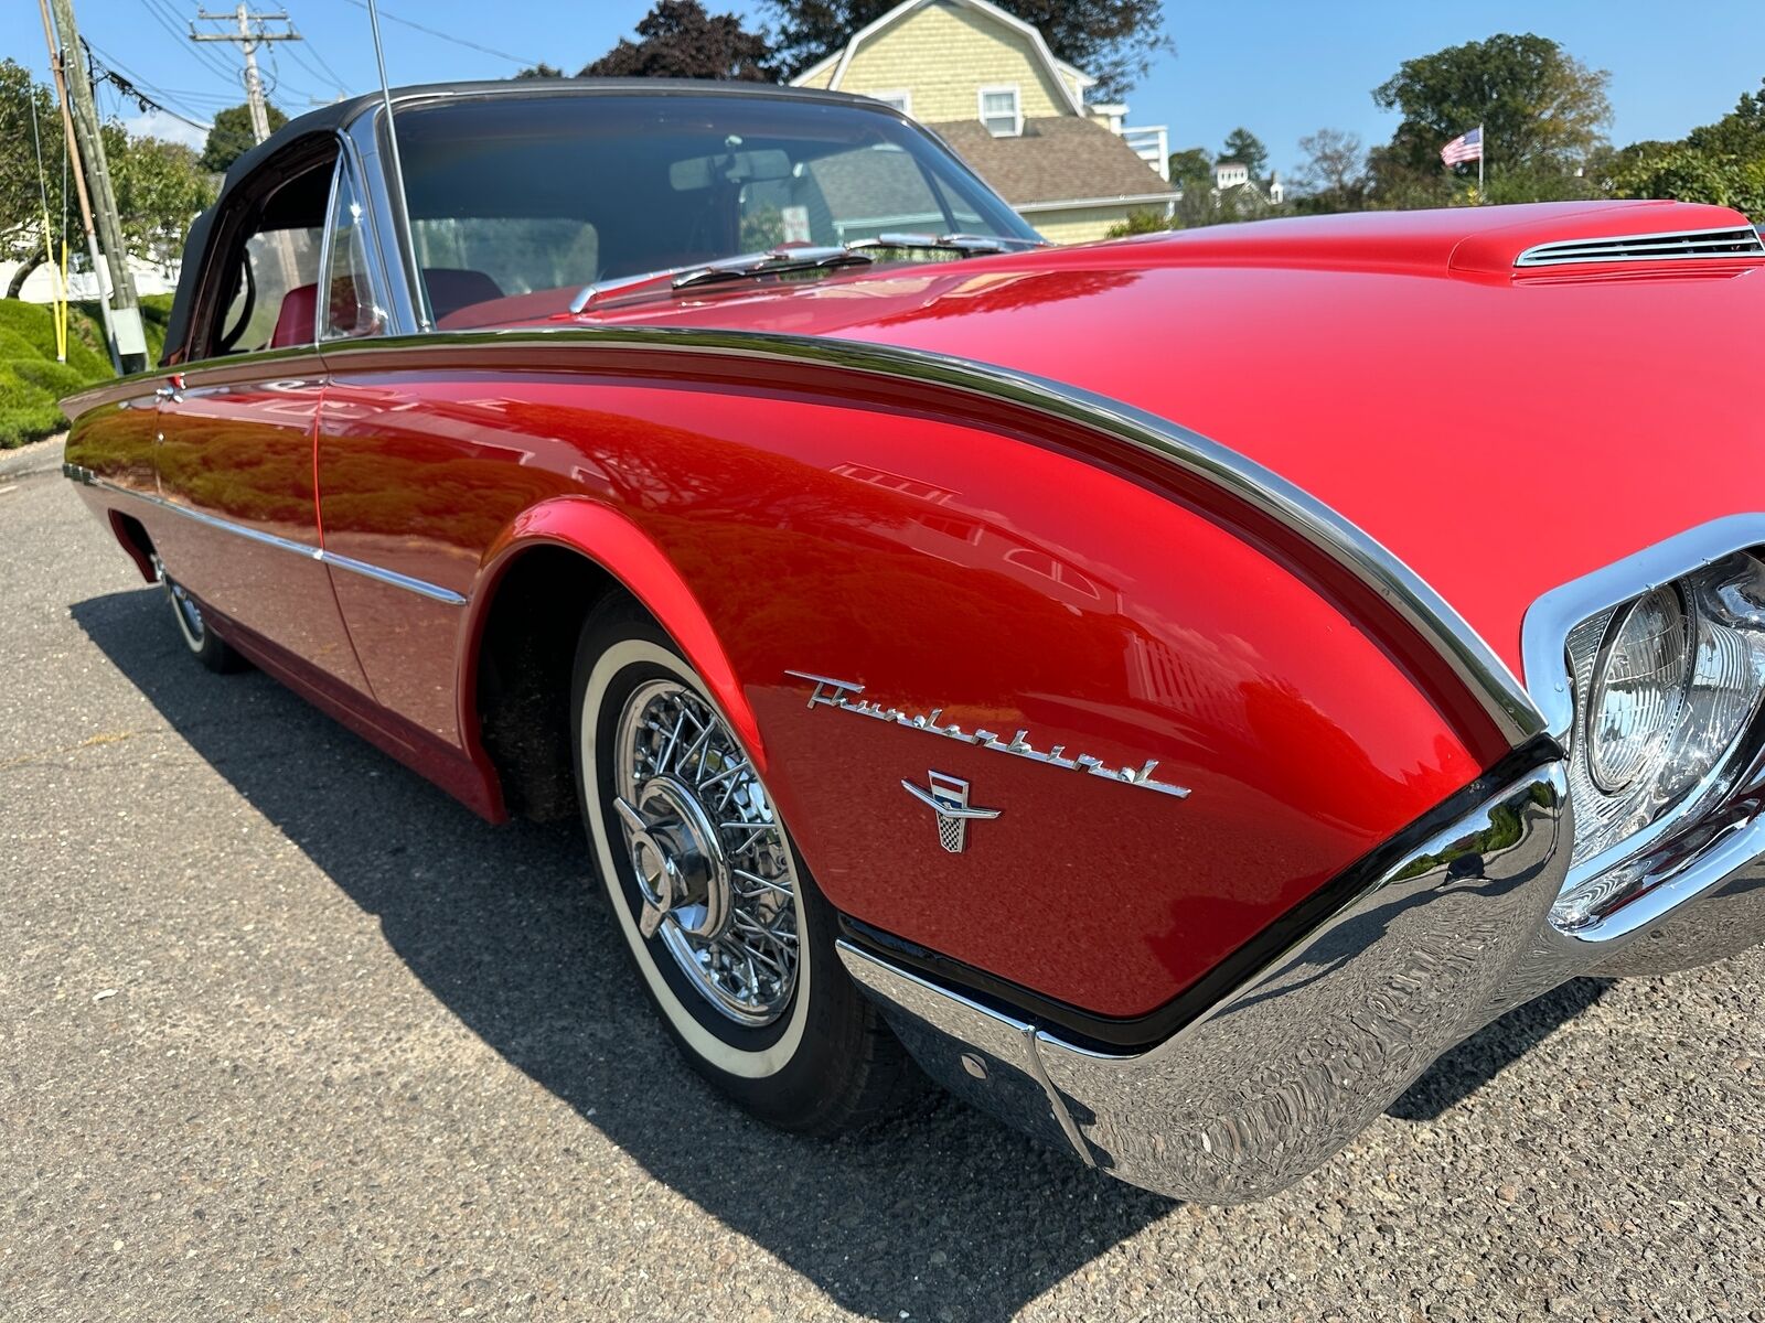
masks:
[(849, 942), (840, 956), (957, 1095), (1135, 1185), (1241, 1203), (1315, 1170), (1440, 1053), (1562, 981), (1684, 968), (1765, 938), (1765, 820), (1622, 924), (1580, 933), (1550, 921), (1571, 838), (1564, 764), (1550, 762), (1138, 1055), (1075, 1046)]

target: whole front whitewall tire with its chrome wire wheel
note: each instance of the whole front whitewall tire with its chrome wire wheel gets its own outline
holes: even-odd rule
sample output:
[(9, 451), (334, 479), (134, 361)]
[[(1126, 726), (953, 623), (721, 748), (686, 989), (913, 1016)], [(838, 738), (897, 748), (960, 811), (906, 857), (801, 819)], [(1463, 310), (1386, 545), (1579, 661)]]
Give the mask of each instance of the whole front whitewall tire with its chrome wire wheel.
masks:
[(831, 907), (704, 683), (628, 600), (582, 628), (572, 721), (597, 871), (687, 1060), (785, 1129), (893, 1110), (913, 1067), (840, 967)]

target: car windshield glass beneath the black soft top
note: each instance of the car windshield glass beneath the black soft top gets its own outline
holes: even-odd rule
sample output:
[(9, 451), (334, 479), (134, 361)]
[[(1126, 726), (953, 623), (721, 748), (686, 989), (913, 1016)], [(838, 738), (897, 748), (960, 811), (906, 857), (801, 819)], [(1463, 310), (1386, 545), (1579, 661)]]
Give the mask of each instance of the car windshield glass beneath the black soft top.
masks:
[(934, 138), (865, 106), (560, 93), (411, 108), (397, 123), (417, 263), (450, 325), (498, 298), (736, 254), (902, 231), (1038, 240)]

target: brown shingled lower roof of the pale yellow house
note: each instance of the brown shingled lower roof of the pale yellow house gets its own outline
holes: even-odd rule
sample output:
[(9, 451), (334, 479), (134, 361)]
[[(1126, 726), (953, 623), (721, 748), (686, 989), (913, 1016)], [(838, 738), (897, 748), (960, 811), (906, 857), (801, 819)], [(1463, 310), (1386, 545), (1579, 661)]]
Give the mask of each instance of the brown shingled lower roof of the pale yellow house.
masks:
[(1110, 198), (1175, 198), (1158, 171), (1096, 120), (1024, 120), (1022, 138), (994, 138), (980, 120), (927, 125), (1013, 206)]

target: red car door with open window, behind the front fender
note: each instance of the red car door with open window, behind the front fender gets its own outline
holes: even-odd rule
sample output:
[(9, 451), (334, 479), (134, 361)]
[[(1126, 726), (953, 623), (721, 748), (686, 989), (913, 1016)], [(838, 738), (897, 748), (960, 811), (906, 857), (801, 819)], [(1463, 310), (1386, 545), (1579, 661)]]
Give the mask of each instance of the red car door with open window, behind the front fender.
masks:
[(157, 467), (168, 572), (208, 609), (353, 690), (367, 690), (319, 556), (314, 430), (323, 395), (318, 273), (335, 139), (295, 143), (228, 196), (231, 296), (198, 310), (198, 362), (161, 388)]

